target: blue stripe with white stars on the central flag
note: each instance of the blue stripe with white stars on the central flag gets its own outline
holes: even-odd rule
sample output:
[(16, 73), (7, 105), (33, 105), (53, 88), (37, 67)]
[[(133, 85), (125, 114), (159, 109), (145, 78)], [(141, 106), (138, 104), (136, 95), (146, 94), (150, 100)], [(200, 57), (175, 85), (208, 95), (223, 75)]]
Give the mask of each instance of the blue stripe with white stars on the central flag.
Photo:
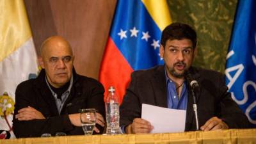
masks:
[[(134, 29), (133, 36), (131, 29)], [(135, 36), (136, 30), (138, 30), (137, 36)], [(141, 1), (119, 0), (117, 2), (110, 36), (133, 70), (163, 64), (159, 56), (161, 30)], [(154, 41), (155, 47), (152, 46)]]

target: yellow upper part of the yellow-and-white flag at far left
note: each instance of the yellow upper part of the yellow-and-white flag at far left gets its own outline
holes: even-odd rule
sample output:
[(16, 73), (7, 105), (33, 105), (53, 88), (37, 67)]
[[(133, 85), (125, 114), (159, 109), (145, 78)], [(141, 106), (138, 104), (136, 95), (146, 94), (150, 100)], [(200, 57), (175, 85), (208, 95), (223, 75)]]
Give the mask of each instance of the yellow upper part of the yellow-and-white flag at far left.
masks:
[(28, 17), (22, 0), (0, 1), (0, 61), (31, 38)]

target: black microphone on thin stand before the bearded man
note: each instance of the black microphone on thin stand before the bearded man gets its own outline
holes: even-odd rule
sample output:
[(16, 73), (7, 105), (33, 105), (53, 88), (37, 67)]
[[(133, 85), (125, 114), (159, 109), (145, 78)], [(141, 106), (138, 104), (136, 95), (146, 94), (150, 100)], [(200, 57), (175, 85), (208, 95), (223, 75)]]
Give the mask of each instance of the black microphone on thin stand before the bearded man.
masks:
[(196, 94), (198, 94), (200, 92), (200, 86), (188, 70), (184, 73), (184, 76), (185, 76), (185, 79), (188, 81), (189, 86), (191, 87), (191, 92), (192, 92), (192, 96), (193, 96), (193, 111), (195, 113), (195, 121), (196, 121), (196, 130), (198, 131), (199, 123), (198, 123), (198, 113), (197, 113), (195, 92), (196, 92)]

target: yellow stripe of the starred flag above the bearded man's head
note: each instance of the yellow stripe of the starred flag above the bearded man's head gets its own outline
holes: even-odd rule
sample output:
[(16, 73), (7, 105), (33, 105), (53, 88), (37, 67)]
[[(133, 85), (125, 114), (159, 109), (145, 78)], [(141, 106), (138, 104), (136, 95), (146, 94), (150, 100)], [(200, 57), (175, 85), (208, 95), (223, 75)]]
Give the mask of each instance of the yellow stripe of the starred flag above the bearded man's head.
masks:
[(172, 19), (166, 0), (141, 0), (161, 31), (171, 24)]

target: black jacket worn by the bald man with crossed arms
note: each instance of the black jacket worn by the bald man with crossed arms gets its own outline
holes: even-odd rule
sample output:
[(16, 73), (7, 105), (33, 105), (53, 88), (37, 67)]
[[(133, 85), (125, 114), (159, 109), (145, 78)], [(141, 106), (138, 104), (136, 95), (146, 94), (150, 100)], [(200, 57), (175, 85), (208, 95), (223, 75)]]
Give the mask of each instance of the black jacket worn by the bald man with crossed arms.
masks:
[[(45, 83), (45, 70), (41, 70), (36, 79), (29, 79), (17, 86), (15, 92), (15, 111), (13, 115), (13, 132), (17, 138), (38, 137), (44, 133), (55, 136), (56, 132), (65, 132), (67, 135), (84, 134), (81, 127), (71, 124), (68, 114), (79, 113), (82, 108), (95, 108), (105, 117), (103, 100), (104, 88), (97, 80), (76, 74), (73, 68), (74, 82), (70, 95), (58, 114), (56, 102)], [(19, 121), (15, 118), (21, 108), (31, 106), (40, 111), (46, 119)], [(100, 133), (103, 127), (97, 125)]]

